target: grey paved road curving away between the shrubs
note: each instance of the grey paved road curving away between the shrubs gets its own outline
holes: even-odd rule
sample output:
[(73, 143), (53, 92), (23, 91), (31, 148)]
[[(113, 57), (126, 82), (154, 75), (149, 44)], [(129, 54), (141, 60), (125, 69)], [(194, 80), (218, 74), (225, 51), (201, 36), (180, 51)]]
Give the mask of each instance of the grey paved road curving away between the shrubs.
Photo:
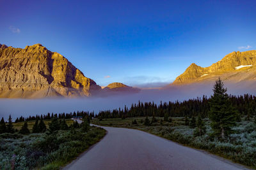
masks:
[(244, 169), (220, 157), (134, 129), (108, 134), (64, 169)]

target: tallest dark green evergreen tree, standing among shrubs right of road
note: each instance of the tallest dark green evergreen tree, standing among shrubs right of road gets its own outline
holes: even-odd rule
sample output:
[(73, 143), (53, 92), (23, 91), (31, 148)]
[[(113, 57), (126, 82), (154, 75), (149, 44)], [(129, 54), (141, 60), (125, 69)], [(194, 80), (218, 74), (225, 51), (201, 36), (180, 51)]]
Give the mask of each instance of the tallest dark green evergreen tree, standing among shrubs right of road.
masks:
[(217, 80), (213, 96), (210, 99), (209, 118), (214, 136), (224, 139), (232, 133), (231, 127), (236, 125), (236, 110), (232, 107), (227, 95), (227, 89), (224, 88), (223, 82)]

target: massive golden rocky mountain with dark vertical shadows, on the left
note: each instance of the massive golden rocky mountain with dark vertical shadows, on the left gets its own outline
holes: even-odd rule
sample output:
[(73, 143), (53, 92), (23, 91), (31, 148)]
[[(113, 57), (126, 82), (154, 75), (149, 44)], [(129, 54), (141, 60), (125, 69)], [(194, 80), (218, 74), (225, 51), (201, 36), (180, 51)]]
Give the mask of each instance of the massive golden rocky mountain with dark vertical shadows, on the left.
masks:
[(0, 97), (90, 96), (101, 89), (40, 44), (24, 49), (0, 44), (0, 60)]

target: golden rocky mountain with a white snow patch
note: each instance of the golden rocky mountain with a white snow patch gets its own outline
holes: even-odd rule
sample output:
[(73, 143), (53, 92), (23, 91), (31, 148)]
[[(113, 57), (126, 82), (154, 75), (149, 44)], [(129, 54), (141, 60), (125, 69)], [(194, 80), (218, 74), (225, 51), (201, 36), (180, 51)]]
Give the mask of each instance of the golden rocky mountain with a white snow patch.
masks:
[(198, 81), (216, 80), (243, 81), (256, 79), (256, 50), (232, 52), (209, 67), (191, 64), (184, 73), (173, 81), (174, 85)]

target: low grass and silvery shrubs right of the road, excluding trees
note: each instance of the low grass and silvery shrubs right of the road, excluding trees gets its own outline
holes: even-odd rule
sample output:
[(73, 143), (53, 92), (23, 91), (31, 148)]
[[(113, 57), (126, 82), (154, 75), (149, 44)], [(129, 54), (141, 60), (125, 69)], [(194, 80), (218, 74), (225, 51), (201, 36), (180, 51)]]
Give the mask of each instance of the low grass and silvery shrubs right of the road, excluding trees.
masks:
[[(151, 120), (151, 117), (148, 117)], [(242, 122), (234, 127), (235, 133), (230, 136), (227, 141), (219, 141), (216, 138), (211, 138), (210, 120), (205, 118), (206, 134), (204, 136), (194, 136), (195, 129), (184, 125), (184, 118), (172, 118), (172, 122), (163, 122), (163, 118), (156, 117), (157, 122), (145, 126), (141, 123), (145, 117), (136, 118), (108, 118), (99, 120), (97, 118), (92, 120), (92, 124), (111, 126), (111, 127), (125, 127), (138, 129), (149, 132), (166, 139), (170, 139), (185, 146), (207, 150), (208, 152), (220, 155), (234, 162), (239, 162), (244, 166), (252, 168), (256, 167), (256, 124), (252, 121), (246, 121), (243, 118)], [(132, 121), (136, 119), (137, 125), (132, 125)]]

